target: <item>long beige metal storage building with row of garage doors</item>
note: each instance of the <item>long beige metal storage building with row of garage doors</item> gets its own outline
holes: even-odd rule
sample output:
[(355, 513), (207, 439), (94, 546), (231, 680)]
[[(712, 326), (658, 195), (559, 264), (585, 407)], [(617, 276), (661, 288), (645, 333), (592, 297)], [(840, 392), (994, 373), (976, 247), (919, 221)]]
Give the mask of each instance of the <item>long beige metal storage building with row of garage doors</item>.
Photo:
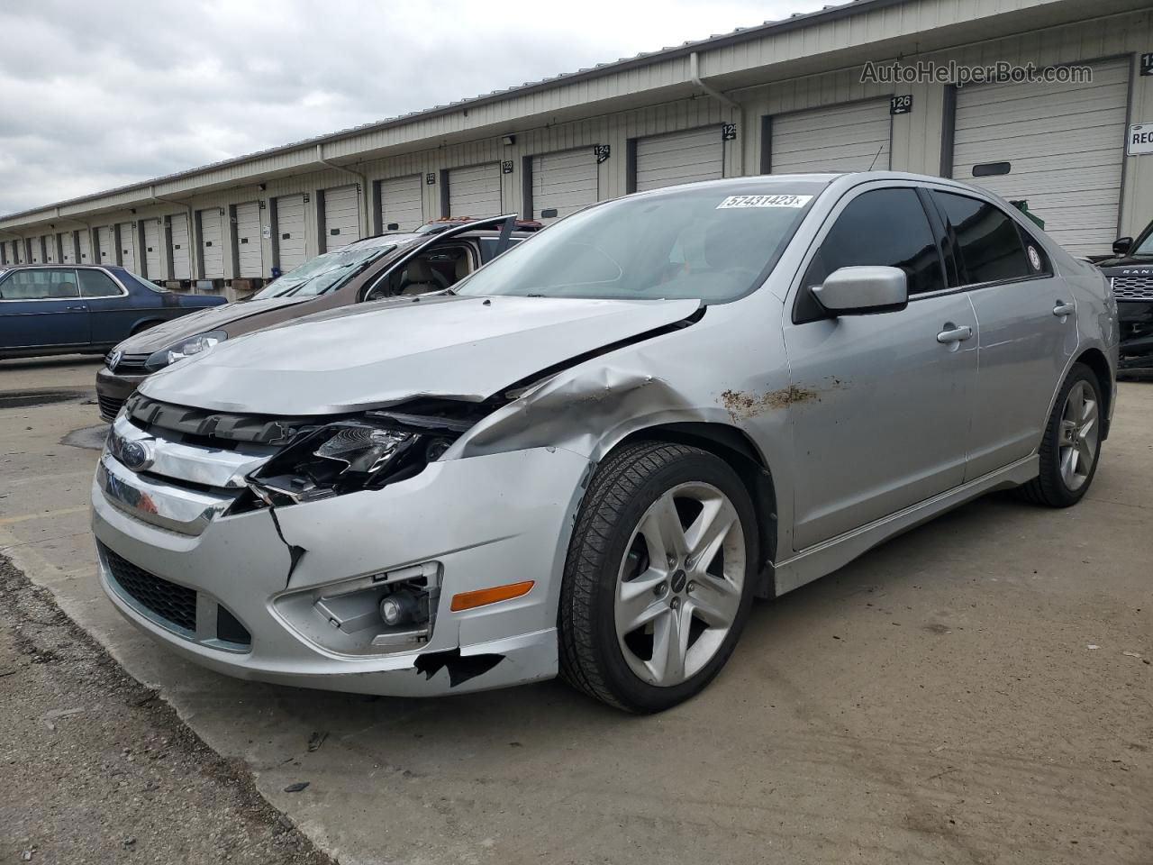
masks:
[[(862, 78), (898, 59), (1093, 76)], [(224, 289), (445, 216), (549, 221), (671, 183), (891, 167), (1025, 198), (1068, 249), (1097, 254), (1153, 218), (1153, 156), (1126, 155), (1136, 123), (1153, 123), (1148, 0), (857, 0), (0, 217), (0, 241), (43, 258), (28, 239), (76, 231), (81, 256)], [(143, 253), (107, 242), (108, 226), (156, 219), (161, 276), (151, 234)]]

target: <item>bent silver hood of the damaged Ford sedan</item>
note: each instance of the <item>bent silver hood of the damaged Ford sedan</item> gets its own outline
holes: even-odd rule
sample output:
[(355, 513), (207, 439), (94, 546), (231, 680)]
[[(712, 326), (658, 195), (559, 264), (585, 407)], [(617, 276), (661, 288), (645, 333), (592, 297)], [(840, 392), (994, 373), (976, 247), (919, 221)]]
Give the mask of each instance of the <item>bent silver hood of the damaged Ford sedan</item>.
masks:
[(257, 331), (145, 379), (165, 403), (336, 414), (421, 396), (481, 401), (586, 352), (691, 316), (695, 300), (409, 298)]

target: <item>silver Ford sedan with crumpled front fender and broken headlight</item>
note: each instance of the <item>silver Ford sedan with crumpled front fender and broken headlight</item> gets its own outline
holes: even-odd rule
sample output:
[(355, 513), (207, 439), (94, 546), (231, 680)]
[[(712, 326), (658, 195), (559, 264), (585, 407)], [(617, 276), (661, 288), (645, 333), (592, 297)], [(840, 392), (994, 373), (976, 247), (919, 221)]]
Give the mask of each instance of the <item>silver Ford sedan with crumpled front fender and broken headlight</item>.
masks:
[(150, 377), (92, 489), (101, 581), (234, 676), (559, 674), (655, 712), (717, 675), (756, 597), (989, 490), (1076, 504), (1116, 362), (1101, 273), (979, 188), (643, 193), (451, 291)]

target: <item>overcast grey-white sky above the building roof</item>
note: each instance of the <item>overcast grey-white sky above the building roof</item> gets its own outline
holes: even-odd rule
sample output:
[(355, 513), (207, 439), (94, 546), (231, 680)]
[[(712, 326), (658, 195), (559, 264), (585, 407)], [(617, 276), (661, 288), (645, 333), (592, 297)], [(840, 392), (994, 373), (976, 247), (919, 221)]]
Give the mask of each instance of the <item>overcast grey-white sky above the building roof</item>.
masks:
[(2, 0), (0, 215), (827, 1)]

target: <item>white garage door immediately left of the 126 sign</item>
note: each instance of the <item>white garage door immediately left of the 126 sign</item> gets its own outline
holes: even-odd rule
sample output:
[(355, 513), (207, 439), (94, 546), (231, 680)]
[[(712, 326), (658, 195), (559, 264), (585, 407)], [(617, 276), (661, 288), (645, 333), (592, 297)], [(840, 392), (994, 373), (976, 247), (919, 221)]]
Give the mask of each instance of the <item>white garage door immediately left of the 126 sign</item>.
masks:
[(770, 171), (887, 170), (891, 129), (888, 99), (777, 114), (771, 126)]

